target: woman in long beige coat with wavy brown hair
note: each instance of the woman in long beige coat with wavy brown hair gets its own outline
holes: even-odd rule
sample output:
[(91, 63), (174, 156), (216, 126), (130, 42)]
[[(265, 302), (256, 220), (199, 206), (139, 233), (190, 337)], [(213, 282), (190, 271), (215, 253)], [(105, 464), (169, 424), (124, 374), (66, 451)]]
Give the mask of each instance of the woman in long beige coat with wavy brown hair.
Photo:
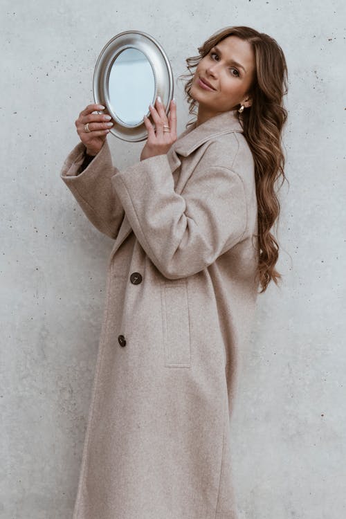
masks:
[(237, 517), (230, 413), (258, 286), (280, 277), (287, 72), (248, 27), (198, 50), (185, 84), (197, 119), (179, 138), (175, 104), (167, 118), (156, 100), (140, 161), (120, 172), (91, 104), (62, 168), (115, 239), (73, 519)]

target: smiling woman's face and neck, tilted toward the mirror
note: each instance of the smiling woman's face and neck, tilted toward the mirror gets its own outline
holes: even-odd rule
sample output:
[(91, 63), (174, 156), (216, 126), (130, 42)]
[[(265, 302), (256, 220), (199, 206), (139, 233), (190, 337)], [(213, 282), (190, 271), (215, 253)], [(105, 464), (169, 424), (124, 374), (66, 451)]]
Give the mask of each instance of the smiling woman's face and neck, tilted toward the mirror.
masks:
[[(216, 47), (212, 47), (197, 65), (190, 89), (191, 97), (199, 103), (200, 122), (217, 113), (236, 109), (239, 103), (251, 106), (251, 98), (246, 95), (255, 73), (251, 44), (232, 35)], [(208, 81), (214, 90), (204, 89), (200, 78)]]

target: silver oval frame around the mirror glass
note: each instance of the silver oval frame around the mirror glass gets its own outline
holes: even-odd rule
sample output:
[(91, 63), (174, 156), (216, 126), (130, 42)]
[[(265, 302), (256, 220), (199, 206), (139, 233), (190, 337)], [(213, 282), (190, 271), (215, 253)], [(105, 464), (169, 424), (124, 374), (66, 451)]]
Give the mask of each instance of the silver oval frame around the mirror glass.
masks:
[[(93, 98), (95, 103), (103, 104), (107, 109), (99, 113), (108, 112), (113, 119), (110, 133), (122, 140), (134, 143), (147, 138), (147, 129), (144, 122), (139, 122), (137, 125), (127, 125), (120, 120), (111, 106), (108, 87), (113, 62), (125, 48), (130, 47), (137, 48), (138, 51), (143, 52), (151, 64), (155, 84), (154, 97), (151, 102), (154, 104), (156, 97), (160, 95), (166, 114), (169, 111), (170, 102), (174, 95), (174, 82), (172, 67), (165, 51), (156, 39), (147, 33), (143, 33), (140, 30), (125, 30), (123, 33), (119, 33), (110, 39), (102, 48), (93, 73)], [(143, 117), (144, 115), (145, 111)], [(147, 107), (147, 116), (152, 125), (154, 125), (149, 112), (149, 105)]]

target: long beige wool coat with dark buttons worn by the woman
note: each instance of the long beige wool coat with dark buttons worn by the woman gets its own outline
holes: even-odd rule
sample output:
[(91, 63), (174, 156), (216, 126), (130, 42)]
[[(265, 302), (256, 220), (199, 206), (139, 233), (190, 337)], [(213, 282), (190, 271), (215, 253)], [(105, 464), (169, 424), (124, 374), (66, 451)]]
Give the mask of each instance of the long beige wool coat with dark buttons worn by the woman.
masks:
[(114, 239), (73, 519), (235, 519), (230, 410), (258, 284), (254, 161), (237, 111), (120, 171), (60, 172)]

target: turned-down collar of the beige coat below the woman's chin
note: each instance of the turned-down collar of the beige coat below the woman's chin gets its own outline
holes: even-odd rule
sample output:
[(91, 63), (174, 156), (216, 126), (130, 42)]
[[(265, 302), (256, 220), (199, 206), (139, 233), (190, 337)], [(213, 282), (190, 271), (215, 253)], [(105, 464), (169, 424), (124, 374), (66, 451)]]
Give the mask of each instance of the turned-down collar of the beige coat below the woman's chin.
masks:
[(219, 113), (217, 116), (203, 122), (196, 127), (196, 120), (179, 135), (173, 143), (172, 148), (179, 155), (188, 156), (197, 147), (206, 143), (207, 140), (218, 135), (229, 134), (233, 131), (243, 132), (242, 125), (238, 120), (238, 111), (229, 110)]

